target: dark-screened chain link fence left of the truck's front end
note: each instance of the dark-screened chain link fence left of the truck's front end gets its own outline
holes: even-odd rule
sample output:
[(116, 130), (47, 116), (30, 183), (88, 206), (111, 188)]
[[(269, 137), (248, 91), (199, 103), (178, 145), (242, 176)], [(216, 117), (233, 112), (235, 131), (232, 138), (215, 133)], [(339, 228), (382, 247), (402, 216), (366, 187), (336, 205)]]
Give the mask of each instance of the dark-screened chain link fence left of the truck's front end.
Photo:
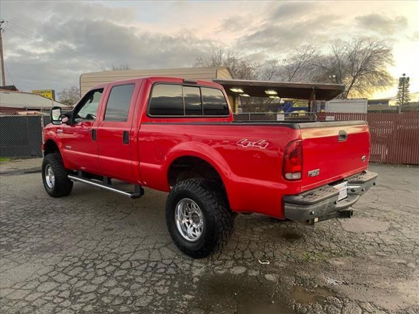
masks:
[(42, 157), (42, 126), (49, 122), (49, 116), (0, 116), (0, 157)]

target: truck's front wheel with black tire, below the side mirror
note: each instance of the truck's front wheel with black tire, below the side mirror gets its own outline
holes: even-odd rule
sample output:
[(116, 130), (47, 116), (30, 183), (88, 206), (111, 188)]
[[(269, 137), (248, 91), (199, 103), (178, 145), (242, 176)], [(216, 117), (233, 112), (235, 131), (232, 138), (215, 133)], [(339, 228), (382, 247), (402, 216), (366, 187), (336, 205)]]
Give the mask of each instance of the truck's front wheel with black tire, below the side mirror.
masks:
[(67, 196), (71, 193), (73, 182), (67, 177), (61, 155), (58, 153), (48, 154), (42, 162), (42, 182), (44, 188), (52, 197)]

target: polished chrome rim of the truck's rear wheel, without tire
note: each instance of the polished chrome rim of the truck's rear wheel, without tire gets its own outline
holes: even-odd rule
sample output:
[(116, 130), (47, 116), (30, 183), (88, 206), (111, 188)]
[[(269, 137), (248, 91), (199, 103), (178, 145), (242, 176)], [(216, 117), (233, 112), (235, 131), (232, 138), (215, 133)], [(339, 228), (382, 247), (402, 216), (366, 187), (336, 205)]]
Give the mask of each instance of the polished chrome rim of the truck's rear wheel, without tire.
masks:
[(176, 226), (179, 233), (188, 241), (197, 241), (204, 229), (204, 216), (198, 204), (190, 198), (181, 199), (175, 210)]

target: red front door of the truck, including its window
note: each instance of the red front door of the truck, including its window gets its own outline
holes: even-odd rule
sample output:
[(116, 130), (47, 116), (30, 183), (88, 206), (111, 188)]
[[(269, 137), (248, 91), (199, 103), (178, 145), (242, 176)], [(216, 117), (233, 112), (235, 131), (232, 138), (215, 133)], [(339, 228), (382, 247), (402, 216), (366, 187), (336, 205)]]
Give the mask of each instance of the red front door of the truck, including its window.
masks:
[(96, 128), (102, 94), (103, 88), (88, 92), (75, 107), (72, 123), (62, 125), (60, 138), (63, 157), (74, 169), (88, 172), (98, 172), (100, 169)]

